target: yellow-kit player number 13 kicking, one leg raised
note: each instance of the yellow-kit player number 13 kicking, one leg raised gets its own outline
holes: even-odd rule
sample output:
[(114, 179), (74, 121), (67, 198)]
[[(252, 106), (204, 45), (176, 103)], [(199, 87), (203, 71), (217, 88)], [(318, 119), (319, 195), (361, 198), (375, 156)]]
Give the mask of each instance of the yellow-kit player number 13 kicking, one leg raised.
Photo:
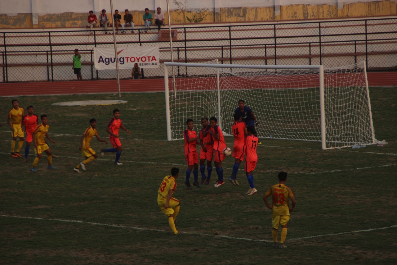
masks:
[(175, 218), (178, 215), (180, 203), (172, 197), (176, 190), (176, 181), (179, 176), (179, 168), (172, 168), (171, 175), (165, 176), (157, 193), (157, 204), (162, 212), (168, 217), (168, 224), (174, 234), (178, 234), (175, 228)]

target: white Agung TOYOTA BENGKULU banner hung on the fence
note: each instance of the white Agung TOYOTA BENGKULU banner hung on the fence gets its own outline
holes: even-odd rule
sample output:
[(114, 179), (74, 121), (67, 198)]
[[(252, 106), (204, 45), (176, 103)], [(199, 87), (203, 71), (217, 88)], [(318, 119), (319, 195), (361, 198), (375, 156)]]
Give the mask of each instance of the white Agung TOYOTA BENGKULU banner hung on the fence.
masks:
[[(140, 68), (160, 67), (159, 47), (117, 47), (119, 69), (132, 69), (137, 63)], [(96, 70), (116, 69), (114, 47), (94, 48)]]

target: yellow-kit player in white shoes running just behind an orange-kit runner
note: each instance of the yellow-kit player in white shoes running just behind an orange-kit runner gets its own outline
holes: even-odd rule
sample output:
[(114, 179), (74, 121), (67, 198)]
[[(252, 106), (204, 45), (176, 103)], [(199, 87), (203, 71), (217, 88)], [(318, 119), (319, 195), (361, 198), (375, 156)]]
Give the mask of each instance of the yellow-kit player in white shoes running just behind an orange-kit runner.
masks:
[(93, 148), (90, 147), (90, 142), (91, 142), (91, 140), (93, 139), (94, 136), (96, 137), (96, 139), (98, 139), (98, 141), (104, 142), (105, 144), (108, 144), (108, 142), (106, 142), (105, 140), (102, 140), (98, 136), (98, 131), (96, 131), (96, 129), (95, 129), (95, 127), (96, 127), (96, 119), (91, 119), (90, 120), (90, 125), (91, 126), (88, 127), (87, 130), (85, 130), (85, 133), (83, 134), (83, 136), (81, 136), (81, 139), (80, 139), (79, 150), (81, 151), (81, 155), (83, 157), (85, 157), (85, 160), (83, 162), (80, 162), (80, 164), (78, 164), (73, 169), (73, 171), (75, 171), (77, 173), (81, 173), (79, 168), (82, 168), (83, 170), (86, 170), (85, 165), (87, 165), (87, 163), (93, 161), (95, 158), (98, 158), (98, 155), (95, 153)]

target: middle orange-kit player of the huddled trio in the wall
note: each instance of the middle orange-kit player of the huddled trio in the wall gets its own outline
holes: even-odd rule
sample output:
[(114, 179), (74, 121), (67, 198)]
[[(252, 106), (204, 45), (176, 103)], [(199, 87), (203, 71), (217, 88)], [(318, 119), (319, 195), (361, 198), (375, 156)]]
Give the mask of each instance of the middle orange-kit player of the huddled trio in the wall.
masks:
[(212, 144), (214, 141), (212, 140), (212, 135), (207, 133), (205, 129), (207, 127), (210, 129), (211, 125), (209, 125), (209, 121), (207, 117), (201, 118), (201, 126), (200, 130), (200, 172), (201, 172), (201, 184), (204, 184), (205, 179), (205, 161), (207, 161), (207, 173), (208, 173), (208, 182), (205, 181), (205, 184), (210, 183), (209, 179), (211, 178), (212, 173), (212, 157), (214, 156), (214, 148), (212, 148)]

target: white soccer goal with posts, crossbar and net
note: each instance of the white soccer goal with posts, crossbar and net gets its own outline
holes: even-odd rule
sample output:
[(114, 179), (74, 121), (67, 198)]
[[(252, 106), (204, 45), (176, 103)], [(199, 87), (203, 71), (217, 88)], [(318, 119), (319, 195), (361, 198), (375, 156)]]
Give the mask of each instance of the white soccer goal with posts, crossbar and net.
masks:
[(243, 99), (260, 123), (260, 138), (317, 141), (322, 149), (380, 143), (365, 62), (338, 68), (164, 62), (164, 84), (168, 140), (183, 138), (187, 119), (198, 131), (200, 119), (212, 116), (232, 135)]

